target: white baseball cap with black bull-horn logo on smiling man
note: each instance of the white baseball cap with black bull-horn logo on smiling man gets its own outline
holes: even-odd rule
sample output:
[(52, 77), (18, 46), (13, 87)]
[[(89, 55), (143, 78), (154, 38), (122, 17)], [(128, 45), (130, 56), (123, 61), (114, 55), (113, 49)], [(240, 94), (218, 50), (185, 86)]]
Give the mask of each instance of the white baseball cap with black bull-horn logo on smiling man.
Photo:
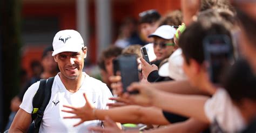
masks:
[(56, 33), (53, 38), (52, 46), (52, 56), (64, 51), (78, 52), (84, 47), (84, 40), (77, 31), (73, 29), (66, 29)]

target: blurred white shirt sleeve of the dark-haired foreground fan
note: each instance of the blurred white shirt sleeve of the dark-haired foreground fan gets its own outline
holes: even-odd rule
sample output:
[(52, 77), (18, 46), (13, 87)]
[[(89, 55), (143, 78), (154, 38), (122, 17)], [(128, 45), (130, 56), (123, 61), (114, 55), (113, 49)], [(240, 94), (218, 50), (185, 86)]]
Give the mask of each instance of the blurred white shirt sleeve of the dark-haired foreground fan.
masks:
[(218, 122), (227, 132), (238, 131), (244, 127), (244, 121), (236, 106), (233, 105), (228, 93), (219, 88), (213, 97), (205, 103), (205, 115), (211, 123)]

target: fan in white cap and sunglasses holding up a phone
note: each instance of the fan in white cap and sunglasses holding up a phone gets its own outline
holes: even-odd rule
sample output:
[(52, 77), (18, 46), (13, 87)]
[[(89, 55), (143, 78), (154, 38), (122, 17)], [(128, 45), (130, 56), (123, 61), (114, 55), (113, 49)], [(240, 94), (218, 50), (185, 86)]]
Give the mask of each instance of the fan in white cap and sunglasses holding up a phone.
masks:
[[(156, 54), (156, 60), (148, 64), (143, 58), (140, 58), (142, 62), (142, 73), (149, 82), (158, 82), (158, 67), (161, 61), (169, 58), (170, 55), (178, 48), (173, 41), (176, 29), (170, 25), (162, 25), (157, 30), (149, 35), (149, 38), (153, 39), (154, 54)], [(163, 79), (160, 79), (163, 80)]]

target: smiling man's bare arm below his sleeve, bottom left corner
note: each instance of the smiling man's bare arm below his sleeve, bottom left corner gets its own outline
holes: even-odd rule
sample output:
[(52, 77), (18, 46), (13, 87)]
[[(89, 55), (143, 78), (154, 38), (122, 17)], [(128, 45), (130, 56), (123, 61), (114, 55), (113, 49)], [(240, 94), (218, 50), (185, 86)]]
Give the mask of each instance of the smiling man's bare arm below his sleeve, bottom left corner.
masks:
[(31, 114), (19, 108), (15, 115), (14, 121), (11, 123), (9, 132), (26, 132), (31, 123)]

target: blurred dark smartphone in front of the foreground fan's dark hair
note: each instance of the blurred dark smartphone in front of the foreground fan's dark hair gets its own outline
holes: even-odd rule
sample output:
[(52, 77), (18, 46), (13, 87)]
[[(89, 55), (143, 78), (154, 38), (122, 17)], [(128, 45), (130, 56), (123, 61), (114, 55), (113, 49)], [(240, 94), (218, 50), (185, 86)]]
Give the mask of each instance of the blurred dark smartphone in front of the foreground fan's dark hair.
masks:
[(227, 35), (208, 35), (203, 40), (203, 46), (210, 79), (219, 85), (221, 74), (234, 63), (231, 39)]

